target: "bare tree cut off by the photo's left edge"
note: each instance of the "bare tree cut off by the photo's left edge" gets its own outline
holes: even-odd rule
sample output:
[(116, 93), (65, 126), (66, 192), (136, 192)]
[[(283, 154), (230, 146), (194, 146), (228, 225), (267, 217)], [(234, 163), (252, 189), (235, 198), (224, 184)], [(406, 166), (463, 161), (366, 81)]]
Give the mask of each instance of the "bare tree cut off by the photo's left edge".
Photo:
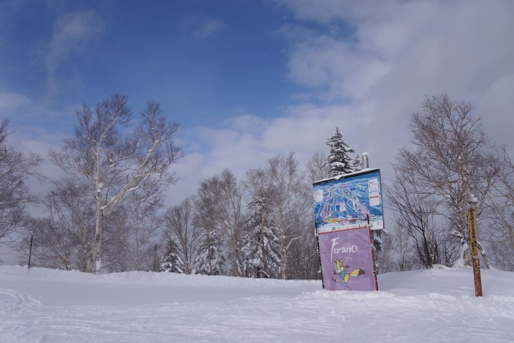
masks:
[(27, 223), (25, 206), (37, 201), (25, 180), (42, 177), (37, 154), (23, 155), (7, 143), (9, 120), (0, 123), (0, 244), (13, 243), (13, 234)]

